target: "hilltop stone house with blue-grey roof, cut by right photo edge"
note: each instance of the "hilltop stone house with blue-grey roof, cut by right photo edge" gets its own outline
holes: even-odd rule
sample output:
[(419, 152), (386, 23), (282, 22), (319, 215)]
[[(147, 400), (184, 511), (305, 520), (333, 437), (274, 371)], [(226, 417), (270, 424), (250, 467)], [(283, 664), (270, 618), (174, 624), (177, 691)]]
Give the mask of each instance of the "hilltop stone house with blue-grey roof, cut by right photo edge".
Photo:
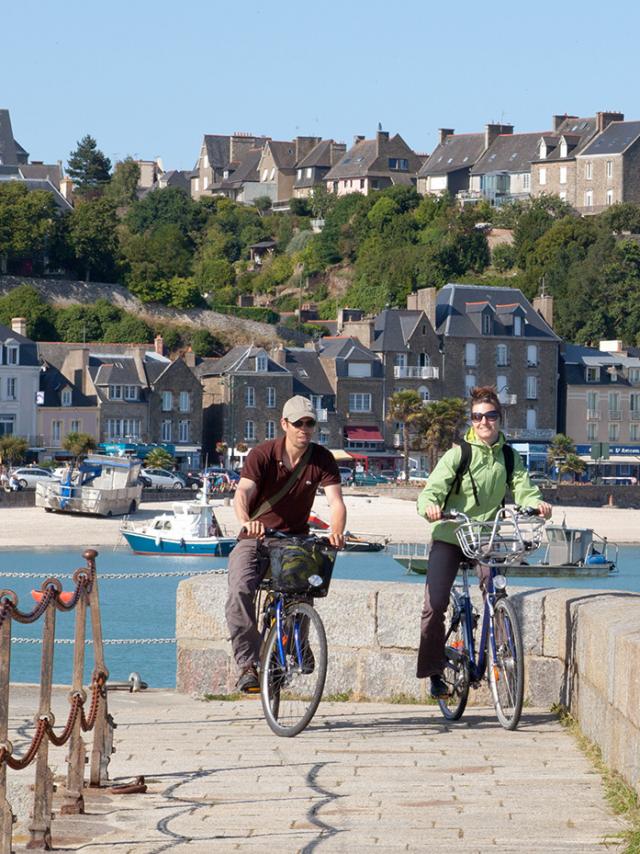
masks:
[(576, 208), (598, 214), (640, 202), (640, 121), (613, 121), (576, 156)]

